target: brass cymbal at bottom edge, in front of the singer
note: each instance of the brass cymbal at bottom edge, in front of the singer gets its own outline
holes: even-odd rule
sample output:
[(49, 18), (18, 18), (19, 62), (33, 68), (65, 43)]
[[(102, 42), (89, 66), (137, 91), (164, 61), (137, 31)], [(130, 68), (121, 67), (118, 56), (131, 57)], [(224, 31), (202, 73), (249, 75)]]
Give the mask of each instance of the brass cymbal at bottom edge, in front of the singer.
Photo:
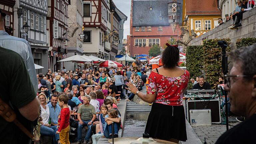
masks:
[[(112, 143), (112, 139), (108, 140), (109, 143)], [(153, 138), (143, 138), (143, 137), (122, 137), (114, 138), (114, 144), (177, 144), (170, 141), (153, 139)]]

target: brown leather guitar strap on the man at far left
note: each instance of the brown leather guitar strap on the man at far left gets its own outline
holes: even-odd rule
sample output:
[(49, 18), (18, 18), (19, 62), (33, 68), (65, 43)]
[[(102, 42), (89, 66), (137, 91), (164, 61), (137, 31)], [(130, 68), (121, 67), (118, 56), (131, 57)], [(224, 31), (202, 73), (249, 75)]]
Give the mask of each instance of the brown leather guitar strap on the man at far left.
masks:
[(22, 125), (17, 119), (16, 114), (13, 111), (13, 109), (6, 104), (1, 98), (0, 98), (0, 115), (3, 119), (5, 119), (7, 122), (13, 122), (23, 133), (25, 133), (30, 139), (34, 140), (34, 136)]

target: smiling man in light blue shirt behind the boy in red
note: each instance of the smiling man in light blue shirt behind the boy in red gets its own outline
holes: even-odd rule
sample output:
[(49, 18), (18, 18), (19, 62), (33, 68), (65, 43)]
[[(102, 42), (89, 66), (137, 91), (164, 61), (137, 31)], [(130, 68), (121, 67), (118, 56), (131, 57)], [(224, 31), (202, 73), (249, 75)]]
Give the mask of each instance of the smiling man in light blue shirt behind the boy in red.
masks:
[(58, 144), (60, 136), (59, 134), (56, 134), (57, 126), (58, 126), (58, 116), (60, 114), (60, 106), (57, 105), (58, 102), (58, 96), (56, 94), (53, 94), (51, 96), (51, 102), (48, 103), (47, 105), (49, 106), (49, 111), (50, 111), (50, 121), (51, 121), (51, 128), (54, 130), (54, 137), (53, 137), (53, 143)]

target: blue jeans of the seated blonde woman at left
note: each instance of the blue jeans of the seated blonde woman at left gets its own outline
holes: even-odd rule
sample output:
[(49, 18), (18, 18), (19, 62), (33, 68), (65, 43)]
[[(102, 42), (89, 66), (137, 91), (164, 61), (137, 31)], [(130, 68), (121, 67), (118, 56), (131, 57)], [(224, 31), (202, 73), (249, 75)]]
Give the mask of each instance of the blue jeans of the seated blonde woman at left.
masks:
[(57, 144), (57, 141), (60, 139), (59, 134), (56, 134), (57, 130), (57, 126), (47, 127), (42, 125), (40, 129), (40, 134), (41, 136), (53, 136), (53, 143)]

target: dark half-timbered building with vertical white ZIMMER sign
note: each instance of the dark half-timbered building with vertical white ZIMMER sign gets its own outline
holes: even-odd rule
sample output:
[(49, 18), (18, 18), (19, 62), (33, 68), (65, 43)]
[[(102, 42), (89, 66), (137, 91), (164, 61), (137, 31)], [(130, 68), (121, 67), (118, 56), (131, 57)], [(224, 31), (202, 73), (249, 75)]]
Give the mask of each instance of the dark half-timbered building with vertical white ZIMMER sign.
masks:
[(48, 0), (47, 39), (49, 41), (48, 68), (61, 70), (62, 62), (57, 62), (67, 54), (68, 5), (70, 0)]

